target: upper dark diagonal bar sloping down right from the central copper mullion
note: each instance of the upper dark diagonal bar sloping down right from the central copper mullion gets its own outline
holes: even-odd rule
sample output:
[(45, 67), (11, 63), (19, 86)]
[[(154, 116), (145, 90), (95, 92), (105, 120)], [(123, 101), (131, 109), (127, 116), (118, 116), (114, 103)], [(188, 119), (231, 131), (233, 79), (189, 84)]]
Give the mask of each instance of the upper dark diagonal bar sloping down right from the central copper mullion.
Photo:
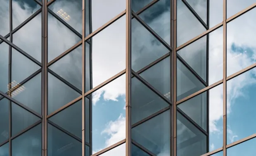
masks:
[(156, 39), (158, 39), (168, 50), (172, 51), (172, 48), (169, 44), (164, 41), (152, 28), (147, 25), (134, 11), (132, 11), (133, 16), (140, 22)]

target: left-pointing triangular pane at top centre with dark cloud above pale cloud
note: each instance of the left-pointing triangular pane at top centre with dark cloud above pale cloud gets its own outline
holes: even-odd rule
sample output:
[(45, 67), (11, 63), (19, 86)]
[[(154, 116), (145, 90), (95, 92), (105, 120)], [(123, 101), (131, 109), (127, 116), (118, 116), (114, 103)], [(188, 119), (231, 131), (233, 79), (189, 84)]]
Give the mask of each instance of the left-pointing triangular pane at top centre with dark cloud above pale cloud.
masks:
[(170, 45), (170, 15), (170, 0), (159, 0), (156, 4), (143, 11), (139, 16)]

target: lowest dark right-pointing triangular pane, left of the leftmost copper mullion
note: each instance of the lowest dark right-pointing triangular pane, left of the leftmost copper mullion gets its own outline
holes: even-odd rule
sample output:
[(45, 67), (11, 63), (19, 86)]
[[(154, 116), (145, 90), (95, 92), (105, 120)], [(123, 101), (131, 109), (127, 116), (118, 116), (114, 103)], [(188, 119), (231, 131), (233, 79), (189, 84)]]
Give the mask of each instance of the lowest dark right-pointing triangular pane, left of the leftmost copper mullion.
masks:
[(12, 103), (12, 136), (37, 122), (40, 118)]

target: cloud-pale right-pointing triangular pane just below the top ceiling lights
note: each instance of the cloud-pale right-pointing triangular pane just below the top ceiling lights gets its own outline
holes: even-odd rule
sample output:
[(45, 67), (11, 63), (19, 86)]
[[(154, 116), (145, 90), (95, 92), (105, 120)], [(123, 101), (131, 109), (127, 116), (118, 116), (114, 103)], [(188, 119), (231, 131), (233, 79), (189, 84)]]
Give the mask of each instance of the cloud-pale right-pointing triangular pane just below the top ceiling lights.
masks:
[(48, 62), (81, 40), (69, 28), (48, 13)]

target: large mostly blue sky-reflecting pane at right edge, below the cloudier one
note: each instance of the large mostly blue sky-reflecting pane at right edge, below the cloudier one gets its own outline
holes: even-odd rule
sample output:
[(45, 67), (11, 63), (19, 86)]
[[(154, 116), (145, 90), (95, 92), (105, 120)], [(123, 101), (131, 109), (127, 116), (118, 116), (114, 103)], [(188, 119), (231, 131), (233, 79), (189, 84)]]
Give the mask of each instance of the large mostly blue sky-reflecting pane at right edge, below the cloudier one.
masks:
[(227, 144), (256, 133), (256, 69), (227, 81)]

